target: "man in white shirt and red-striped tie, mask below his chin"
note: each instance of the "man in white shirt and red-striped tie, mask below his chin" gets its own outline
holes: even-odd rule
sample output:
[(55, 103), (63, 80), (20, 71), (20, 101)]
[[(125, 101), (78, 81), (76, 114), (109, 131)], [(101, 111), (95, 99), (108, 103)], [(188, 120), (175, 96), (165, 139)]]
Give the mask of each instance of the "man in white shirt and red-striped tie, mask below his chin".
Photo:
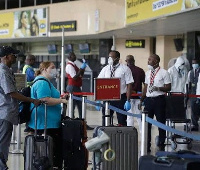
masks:
[[(157, 121), (165, 124), (165, 92), (171, 90), (171, 80), (169, 73), (160, 68), (160, 57), (156, 54), (148, 58), (149, 71), (146, 72), (145, 85), (142, 91), (141, 103), (144, 102), (144, 110), (148, 112), (148, 117), (156, 116)], [(151, 152), (151, 124), (148, 123), (147, 152)], [(159, 130), (159, 150), (164, 151), (166, 133), (163, 129)]]

